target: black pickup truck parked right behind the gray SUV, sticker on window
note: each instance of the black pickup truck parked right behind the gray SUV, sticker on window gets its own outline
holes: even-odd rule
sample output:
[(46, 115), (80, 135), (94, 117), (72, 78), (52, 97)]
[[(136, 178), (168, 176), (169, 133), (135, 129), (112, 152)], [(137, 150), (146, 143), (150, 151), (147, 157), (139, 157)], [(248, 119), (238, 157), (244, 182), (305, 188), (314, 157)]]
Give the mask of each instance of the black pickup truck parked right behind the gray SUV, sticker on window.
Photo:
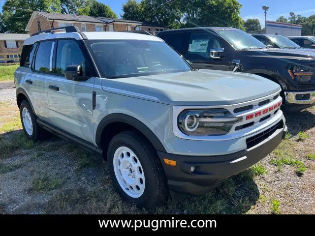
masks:
[(315, 53), (270, 48), (234, 28), (191, 28), (157, 35), (197, 69), (246, 72), (278, 83), (286, 111), (315, 105)]

